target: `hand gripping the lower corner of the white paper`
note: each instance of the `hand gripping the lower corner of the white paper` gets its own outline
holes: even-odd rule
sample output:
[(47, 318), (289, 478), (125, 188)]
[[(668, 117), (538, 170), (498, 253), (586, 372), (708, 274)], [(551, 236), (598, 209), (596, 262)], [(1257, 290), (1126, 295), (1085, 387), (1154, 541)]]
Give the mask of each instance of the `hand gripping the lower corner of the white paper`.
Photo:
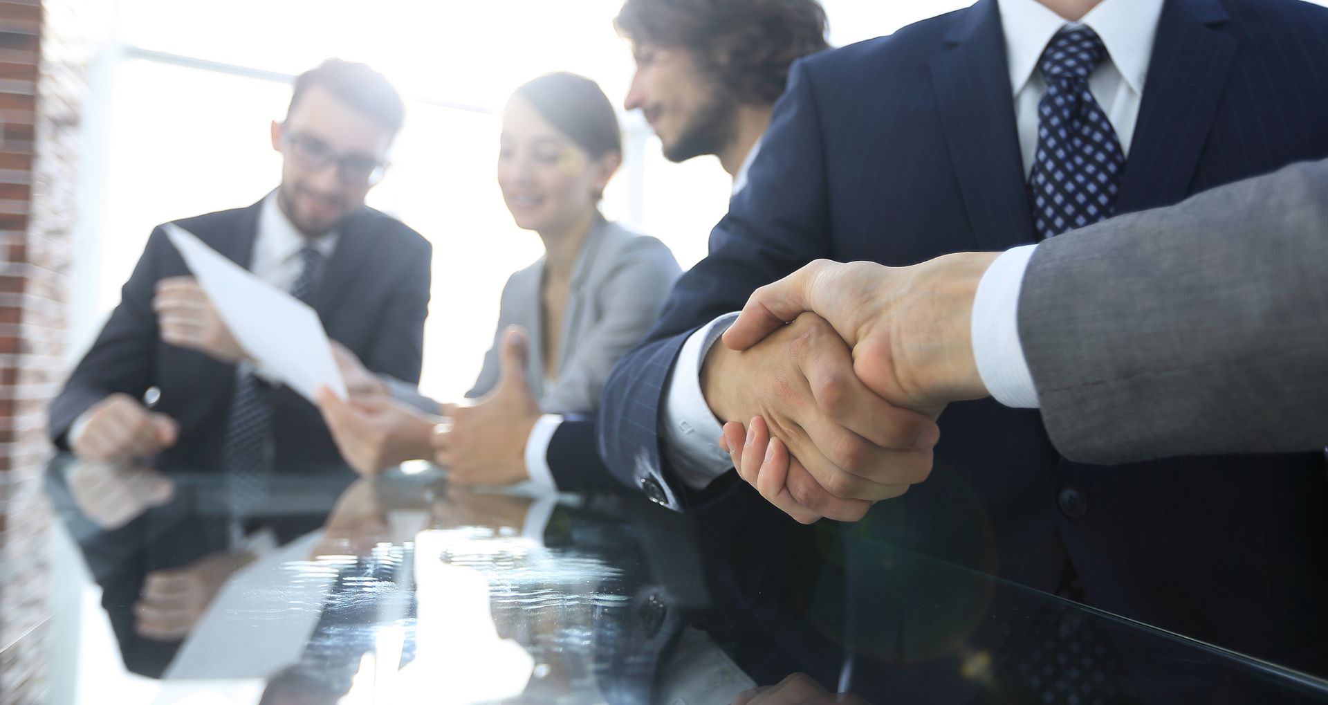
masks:
[(343, 401), (319, 390), (319, 409), (341, 457), (361, 475), (433, 454), (433, 421), (388, 396)]

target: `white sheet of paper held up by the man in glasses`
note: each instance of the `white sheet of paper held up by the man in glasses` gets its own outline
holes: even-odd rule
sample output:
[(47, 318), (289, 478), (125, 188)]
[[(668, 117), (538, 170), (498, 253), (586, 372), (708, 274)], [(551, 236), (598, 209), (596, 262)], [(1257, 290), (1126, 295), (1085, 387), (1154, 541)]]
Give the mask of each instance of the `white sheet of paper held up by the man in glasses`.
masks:
[(347, 398), (345, 381), (313, 308), (226, 259), (193, 232), (175, 223), (163, 227), (216, 315), (259, 365), (309, 402), (320, 386)]

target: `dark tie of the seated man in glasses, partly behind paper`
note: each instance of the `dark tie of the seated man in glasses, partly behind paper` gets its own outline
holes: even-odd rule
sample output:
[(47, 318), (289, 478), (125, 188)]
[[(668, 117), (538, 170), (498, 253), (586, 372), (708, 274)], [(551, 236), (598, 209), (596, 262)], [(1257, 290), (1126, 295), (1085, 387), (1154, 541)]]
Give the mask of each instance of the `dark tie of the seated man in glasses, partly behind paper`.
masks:
[[(291, 296), (309, 303), (323, 270), (323, 254), (312, 246), (300, 251), (300, 276)], [(236, 374), (235, 394), (226, 417), (222, 466), (226, 469), (231, 514), (248, 516), (267, 499), (267, 482), (276, 447), (272, 439), (272, 408), (263, 398), (252, 372)]]

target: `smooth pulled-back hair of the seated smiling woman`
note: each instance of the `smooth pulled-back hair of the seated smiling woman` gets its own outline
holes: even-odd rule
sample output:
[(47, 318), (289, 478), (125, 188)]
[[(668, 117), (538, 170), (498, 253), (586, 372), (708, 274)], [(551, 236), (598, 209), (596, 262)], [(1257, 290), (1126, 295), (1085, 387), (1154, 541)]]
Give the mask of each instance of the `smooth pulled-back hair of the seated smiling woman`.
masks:
[(618, 113), (595, 81), (575, 73), (548, 73), (518, 88), (515, 94), (592, 159), (623, 153)]

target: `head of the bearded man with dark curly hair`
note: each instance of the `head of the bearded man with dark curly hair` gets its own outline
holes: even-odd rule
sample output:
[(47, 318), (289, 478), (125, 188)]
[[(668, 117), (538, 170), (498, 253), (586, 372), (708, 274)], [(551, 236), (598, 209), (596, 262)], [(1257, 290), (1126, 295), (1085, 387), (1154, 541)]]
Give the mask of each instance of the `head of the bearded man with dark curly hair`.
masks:
[(641, 110), (669, 161), (718, 157), (734, 193), (789, 66), (829, 48), (815, 0), (627, 0), (614, 24), (636, 60), (624, 108)]

